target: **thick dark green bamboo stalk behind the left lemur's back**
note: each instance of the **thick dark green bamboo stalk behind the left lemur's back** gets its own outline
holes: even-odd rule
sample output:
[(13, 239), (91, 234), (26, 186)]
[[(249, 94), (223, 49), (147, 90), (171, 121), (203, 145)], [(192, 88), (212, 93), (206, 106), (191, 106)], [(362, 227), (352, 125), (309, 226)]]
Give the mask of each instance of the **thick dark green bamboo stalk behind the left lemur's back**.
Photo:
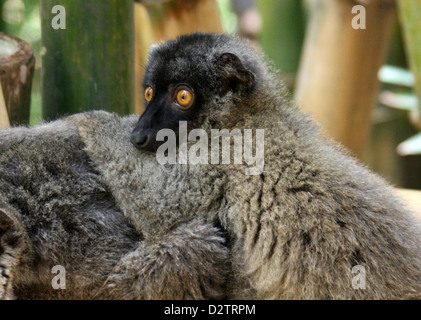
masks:
[[(55, 5), (66, 29), (55, 30)], [(132, 0), (41, 0), (43, 118), (134, 111)]]

